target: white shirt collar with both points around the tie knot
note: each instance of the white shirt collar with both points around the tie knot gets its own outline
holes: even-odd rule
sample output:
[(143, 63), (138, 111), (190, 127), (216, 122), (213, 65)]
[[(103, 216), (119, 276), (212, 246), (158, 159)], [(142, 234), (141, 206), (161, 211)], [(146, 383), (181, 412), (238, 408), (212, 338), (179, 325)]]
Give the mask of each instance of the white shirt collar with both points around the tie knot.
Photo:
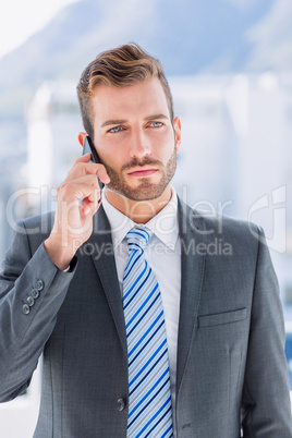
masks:
[[(171, 187), (172, 195), (166, 207), (151, 218), (145, 226), (151, 230), (156, 238), (159, 239), (169, 250), (174, 251), (179, 238), (178, 221), (178, 197), (174, 187)], [(111, 227), (113, 250), (115, 250), (126, 233), (137, 223), (123, 215), (113, 207), (104, 195), (102, 206)]]

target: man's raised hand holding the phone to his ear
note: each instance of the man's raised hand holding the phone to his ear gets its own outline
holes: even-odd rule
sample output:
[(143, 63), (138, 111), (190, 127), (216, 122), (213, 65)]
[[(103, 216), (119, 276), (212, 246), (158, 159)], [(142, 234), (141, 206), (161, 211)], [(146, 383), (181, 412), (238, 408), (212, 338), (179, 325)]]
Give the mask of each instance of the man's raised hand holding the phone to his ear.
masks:
[(110, 182), (105, 166), (89, 159), (90, 154), (77, 158), (57, 191), (54, 223), (45, 247), (62, 270), (93, 232), (93, 217), (101, 196), (97, 174), (105, 184)]

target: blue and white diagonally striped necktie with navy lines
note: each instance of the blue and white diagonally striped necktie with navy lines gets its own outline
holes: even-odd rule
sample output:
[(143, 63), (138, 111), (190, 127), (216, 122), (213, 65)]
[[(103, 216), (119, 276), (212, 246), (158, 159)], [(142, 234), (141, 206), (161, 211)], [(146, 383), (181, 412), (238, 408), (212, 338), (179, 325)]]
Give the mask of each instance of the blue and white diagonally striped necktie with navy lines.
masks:
[(130, 259), (123, 277), (129, 362), (129, 438), (172, 437), (168, 346), (159, 284), (145, 260), (153, 233), (134, 227), (126, 234)]

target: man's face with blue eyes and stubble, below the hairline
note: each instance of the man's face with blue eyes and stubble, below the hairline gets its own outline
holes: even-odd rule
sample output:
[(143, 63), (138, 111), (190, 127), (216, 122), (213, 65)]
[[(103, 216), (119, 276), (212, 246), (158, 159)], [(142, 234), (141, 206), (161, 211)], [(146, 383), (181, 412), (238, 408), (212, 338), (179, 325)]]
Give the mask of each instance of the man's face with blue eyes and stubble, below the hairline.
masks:
[(121, 88), (97, 85), (92, 108), (108, 187), (134, 200), (158, 198), (174, 174), (181, 142), (180, 120), (172, 125), (159, 80)]

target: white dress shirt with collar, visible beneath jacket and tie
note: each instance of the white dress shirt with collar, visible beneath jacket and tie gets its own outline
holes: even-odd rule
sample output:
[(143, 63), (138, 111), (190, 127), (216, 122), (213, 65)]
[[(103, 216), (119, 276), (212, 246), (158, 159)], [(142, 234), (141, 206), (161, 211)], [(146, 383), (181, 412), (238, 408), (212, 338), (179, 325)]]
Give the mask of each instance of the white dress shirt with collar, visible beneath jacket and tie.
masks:
[[(115, 266), (122, 296), (123, 272), (129, 260), (125, 235), (137, 223), (114, 208), (105, 195), (102, 206), (111, 226)], [(145, 226), (154, 232), (153, 239), (145, 248), (145, 258), (153, 268), (161, 291), (169, 353), (172, 412), (174, 413), (181, 297), (181, 246), (179, 239), (178, 198), (173, 187), (170, 202)], [(173, 429), (175, 429), (175, 425)]]

